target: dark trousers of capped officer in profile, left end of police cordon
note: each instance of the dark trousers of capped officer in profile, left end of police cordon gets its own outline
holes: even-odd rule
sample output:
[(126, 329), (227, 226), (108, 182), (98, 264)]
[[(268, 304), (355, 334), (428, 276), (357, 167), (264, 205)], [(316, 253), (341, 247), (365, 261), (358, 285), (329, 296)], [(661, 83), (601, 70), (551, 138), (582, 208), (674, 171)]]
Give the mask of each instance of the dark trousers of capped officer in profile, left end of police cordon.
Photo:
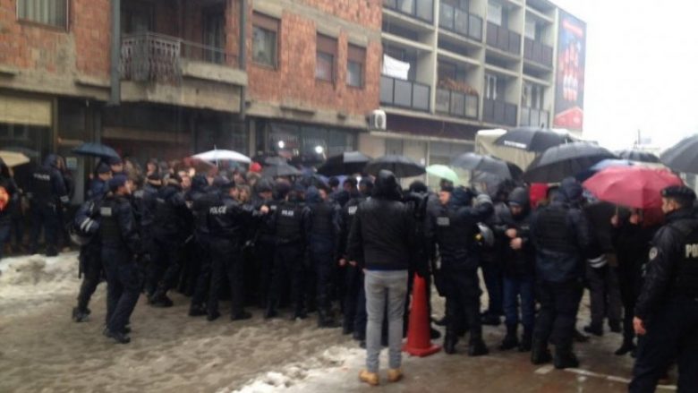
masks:
[(140, 295), (140, 275), (129, 252), (102, 246), (106, 273), (106, 328), (123, 331)]

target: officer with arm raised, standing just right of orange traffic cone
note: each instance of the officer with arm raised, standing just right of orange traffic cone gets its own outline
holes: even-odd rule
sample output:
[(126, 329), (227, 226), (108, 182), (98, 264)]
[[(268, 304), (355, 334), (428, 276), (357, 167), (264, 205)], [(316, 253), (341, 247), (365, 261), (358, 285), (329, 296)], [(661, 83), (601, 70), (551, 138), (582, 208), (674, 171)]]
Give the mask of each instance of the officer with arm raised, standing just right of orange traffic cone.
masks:
[(477, 274), (480, 266), (480, 252), (475, 242), (477, 223), (488, 218), (494, 211), (487, 194), (477, 197), (477, 206), (472, 207), (472, 194), (463, 187), (450, 193), (447, 203), (441, 209), (430, 210), (425, 233), (430, 244), (430, 255), (436, 254), (436, 246), (441, 257), (440, 274), (447, 297), (447, 328), (444, 337), (444, 351), (455, 354), (458, 342), (457, 324), (467, 320), (470, 328), (468, 355), (478, 356), (489, 353), (482, 341), (480, 318), (481, 289)]

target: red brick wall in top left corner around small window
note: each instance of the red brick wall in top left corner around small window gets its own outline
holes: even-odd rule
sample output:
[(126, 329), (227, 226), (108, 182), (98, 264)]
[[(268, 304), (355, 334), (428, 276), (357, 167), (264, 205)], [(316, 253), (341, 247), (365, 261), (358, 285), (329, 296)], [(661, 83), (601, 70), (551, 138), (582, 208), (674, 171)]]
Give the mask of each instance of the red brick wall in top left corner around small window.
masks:
[[(109, 72), (108, 0), (71, 0), (69, 29), (17, 21), (17, 0), (0, 0), (0, 64), (23, 70), (106, 77)], [(75, 48), (80, 48), (77, 51)]]

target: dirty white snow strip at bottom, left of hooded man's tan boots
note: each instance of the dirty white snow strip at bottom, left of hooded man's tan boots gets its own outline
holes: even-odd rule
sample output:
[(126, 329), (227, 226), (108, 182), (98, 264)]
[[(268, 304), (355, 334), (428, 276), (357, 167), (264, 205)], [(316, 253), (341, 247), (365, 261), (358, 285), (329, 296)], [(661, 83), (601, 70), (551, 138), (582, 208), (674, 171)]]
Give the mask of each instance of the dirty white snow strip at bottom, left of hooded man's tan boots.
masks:
[[(268, 393), (290, 389), (309, 376), (330, 373), (343, 367), (347, 361), (357, 357), (362, 358), (364, 355), (365, 351), (362, 349), (332, 346), (319, 356), (301, 363), (287, 364), (280, 372), (267, 372), (248, 382), (242, 389), (234, 390), (233, 393)], [(221, 389), (217, 393), (230, 392), (231, 389)]]

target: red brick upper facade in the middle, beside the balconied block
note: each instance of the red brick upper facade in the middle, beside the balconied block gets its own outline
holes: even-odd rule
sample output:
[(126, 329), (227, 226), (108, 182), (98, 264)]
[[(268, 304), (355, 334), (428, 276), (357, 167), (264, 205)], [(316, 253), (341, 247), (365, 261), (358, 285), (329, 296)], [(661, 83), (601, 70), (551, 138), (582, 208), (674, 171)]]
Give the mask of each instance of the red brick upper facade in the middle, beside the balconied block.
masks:
[[(353, 22), (367, 30), (380, 30), (379, 0), (296, 0), (296, 3), (314, 6), (324, 13)], [(348, 34), (344, 30), (337, 37), (336, 81), (329, 83), (315, 79), (316, 34), (315, 21), (308, 16), (285, 10), (278, 37), (277, 69), (255, 64), (251, 59), (251, 39), (248, 40), (250, 98), (262, 102), (283, 102), (337, 110), (351, 115), (365, 115), (379, 107), (382, 54), (379, 39), (370, 40), (366, 47), (364, 87), (357, 89), (347, 86), (345, 82)], [(248, 36), (252, 36), (251, 24), (248, 26)]]

